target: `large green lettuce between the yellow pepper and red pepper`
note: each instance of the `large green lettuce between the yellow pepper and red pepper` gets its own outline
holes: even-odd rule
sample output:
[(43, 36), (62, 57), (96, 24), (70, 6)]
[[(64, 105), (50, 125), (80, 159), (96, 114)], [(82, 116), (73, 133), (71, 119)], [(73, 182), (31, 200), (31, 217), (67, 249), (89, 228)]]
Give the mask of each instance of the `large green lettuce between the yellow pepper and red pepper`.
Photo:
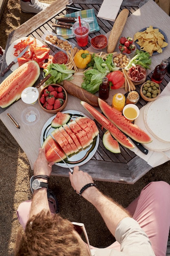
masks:
[(91, 62), (87, 67), (91, 69), (84, 72), (82, 88), (88, 92), (95, 93), (99, 90), (99, 85), (102, 83), (102, 79), (110, 73), (110, 71), (119, 70), (119, 67), (115, 67), (112, 62), (113, 54), (108, 54), (106, 60), (102, 57), (92, 55)]

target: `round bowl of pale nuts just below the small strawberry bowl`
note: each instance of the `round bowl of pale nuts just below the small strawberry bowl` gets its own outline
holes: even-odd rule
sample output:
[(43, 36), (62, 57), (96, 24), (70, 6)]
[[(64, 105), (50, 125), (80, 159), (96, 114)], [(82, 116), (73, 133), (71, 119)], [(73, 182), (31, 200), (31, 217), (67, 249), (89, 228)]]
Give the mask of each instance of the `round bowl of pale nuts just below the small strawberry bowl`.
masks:
[(130, 56), (126, 53), (117, 52), (113, 55), (112, 61), (116, 67), (125, 68), (130, 61)]

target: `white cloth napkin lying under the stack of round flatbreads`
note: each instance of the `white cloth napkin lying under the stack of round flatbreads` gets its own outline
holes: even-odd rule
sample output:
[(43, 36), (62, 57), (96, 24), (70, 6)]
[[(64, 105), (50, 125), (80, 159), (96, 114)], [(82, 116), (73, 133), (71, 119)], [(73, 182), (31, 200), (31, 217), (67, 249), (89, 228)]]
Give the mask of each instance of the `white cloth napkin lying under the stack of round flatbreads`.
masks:
[[(161, 92), (159, 97), (167, 96), (167, 95), (170, 95), (170, 82), (168, 83), (168, 85), (166, 85), (166, 88)], [(145, 108), (145, 106), (142, 108)], [(145, 144), (144, 144), (144, 146), (145, 146)], [(159, 166), (159, 165), (164, 164), (165, 162), (170, 160), (170, 150), (166, 150), (163, 152), (157, 152), (157, 151), (148, 149), (147, 155), (142, 153), (137, 147), (133, 148), (132, 151), (136, 155), (138, 155), (139, 157), (144, 159), (152, 167)]]

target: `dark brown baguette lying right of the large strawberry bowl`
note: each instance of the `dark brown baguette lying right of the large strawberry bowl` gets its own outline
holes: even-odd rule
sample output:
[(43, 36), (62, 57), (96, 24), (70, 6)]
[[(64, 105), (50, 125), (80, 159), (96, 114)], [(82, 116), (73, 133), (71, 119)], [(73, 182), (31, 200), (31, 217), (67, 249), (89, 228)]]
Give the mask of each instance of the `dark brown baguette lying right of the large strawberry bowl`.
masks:
[(77, 97), (81, 101), (85, 101), (93, 107), (99, 106), (98, 97), (86, 91), (85, 89), (79, 87), (78, 85), (75, 85), (74, 83), (64, 80), (64, 84), (62, 86), (64, 87), (66, 92)]

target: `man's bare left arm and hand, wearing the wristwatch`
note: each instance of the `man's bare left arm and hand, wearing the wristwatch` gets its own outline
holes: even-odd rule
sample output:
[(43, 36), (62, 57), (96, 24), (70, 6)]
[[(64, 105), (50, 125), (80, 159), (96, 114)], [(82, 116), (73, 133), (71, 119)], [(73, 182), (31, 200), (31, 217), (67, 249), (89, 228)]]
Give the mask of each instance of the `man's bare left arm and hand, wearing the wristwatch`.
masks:
[[(50, 166), (52, 166), (53, 164), (54, 164), (53, 162), (48, 164), (46, 157), (45, 157), (45, 149), (40, 148), (38, 158), (34, 163), (34, 176), (47, 175), (50, 177), (51, 170), (52, 170), (52, 168)], [(46, 183), (48, 182), (47, 180), (45, 180), (43, 178), (39, 178), (39, 180), (42, 182), (46, 182)], [(43, 209), (46, 209), (47, 211), (50, 210), (46, 188), (34, 190), (32, 204), (31, 204), (31, 210), (30, 210), (30, 217), (38, 214)]]

